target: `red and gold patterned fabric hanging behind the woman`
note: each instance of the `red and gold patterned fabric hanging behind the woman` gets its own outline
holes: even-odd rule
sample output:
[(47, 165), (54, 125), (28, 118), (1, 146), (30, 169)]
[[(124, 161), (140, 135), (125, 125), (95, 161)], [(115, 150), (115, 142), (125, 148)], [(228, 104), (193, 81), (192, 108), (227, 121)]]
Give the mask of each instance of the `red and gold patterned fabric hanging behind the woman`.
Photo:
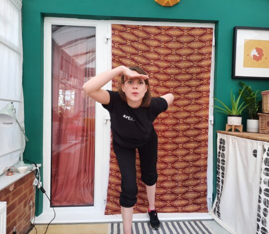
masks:
[[(164, 213), (207, 212), (207, 142), (212, 28), (112, 25), (113, 68), (140, 66), (152, 96), (175, 96), (155, 120), (158, 134), (156, 208)], [(113, 82), (117, 90), (118, 81)], [(111, 146), (112, 147), (112, 146)], [(145, 213), (146, 190), (136, 155), (137, 203)], [(105, 214), (119, 214), (121, 175), (111, 150)]]

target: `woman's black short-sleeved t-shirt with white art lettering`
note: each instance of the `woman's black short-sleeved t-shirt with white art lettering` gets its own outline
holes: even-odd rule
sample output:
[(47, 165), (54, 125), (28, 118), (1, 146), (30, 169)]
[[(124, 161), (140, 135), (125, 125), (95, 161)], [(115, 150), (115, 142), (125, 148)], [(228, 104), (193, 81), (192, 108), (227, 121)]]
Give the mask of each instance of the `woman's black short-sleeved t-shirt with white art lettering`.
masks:
[(153, 121), (168, 104), (163, 98), (151, 98), (148, 107), (131, 108), (124, 102), (119, 93), (108, 90), (110, 103), (102, 106), (109, 111), (113, 140), (127, 148), (144, 145), (154, 131)]

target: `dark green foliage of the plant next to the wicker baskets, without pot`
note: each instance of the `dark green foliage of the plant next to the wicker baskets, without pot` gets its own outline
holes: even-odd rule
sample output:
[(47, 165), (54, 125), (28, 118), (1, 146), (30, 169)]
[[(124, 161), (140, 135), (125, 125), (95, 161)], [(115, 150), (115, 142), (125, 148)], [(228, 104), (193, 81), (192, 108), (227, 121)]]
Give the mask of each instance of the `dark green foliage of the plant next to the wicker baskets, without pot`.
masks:
[(242, 90), (239, 90), (239, 93), (242, 95), (245, 103), (248, 104), (246, 112), (250, 119), (259, 119), (258, 113), (262, 112), (262, 97), (261, 91), (253, 91), (251, 86), (246, 85), (242, 81), (239, 82), (243, 87)]

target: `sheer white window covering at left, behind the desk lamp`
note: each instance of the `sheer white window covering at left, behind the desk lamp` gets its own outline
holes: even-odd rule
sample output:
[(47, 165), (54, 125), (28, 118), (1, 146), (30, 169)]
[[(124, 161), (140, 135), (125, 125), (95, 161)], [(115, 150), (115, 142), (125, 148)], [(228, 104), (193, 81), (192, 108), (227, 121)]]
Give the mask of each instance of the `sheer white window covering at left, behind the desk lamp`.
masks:
[[(0, 29), (0, 110), (13, 102), (17, 120), (24, 126), (21, 0), (0, 0)], [(19, 126), (0, 127), (0, 175), (19, 160), (19, 152)]]

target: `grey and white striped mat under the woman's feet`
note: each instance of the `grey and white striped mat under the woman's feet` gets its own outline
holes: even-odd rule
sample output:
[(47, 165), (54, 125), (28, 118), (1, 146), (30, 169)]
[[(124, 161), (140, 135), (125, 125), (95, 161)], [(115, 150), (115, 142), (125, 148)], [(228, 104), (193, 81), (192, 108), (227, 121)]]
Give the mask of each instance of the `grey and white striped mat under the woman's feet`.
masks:
[[(123, 234), (123, 224), (110, 224), (108, 234)], [(213, 234), (203, 221), (161, 222), (158, 230), (151, 230), (149, 223), (133, 223), (132, 234)]]

